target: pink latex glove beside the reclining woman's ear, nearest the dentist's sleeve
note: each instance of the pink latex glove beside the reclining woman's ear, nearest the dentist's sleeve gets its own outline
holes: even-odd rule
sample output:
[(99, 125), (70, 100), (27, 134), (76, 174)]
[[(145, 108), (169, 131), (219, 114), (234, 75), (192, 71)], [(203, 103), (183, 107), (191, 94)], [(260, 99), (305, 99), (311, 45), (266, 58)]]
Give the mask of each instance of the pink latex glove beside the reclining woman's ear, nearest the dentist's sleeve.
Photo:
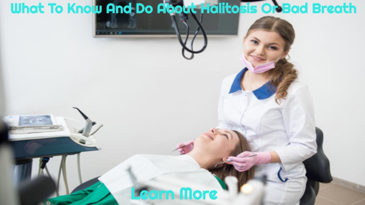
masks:
[[(245, 156), (250, 156), (257, 154), (256, 156), (251, 156), (247, 158), (242, 158)], [(237, 169), (237, 171), (247, 171), (254, 165), (268, 164), (271, 160), (270, 152), (242, 152), (241, 154), (228, 157), (228, 160), (232, 160), (230, 163)]]

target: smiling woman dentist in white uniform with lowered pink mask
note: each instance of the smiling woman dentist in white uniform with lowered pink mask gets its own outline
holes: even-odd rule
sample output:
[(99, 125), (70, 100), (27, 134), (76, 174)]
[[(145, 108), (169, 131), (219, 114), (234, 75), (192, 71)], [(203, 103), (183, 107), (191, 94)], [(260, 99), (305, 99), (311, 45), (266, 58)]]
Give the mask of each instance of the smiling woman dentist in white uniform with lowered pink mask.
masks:
[[(241, 132), (252, 150), (228, 159), (238, 171), (255, 166), (255, 176), (266, 175), (265, 205), (299, 205), (307, 182), (302, 162), (317, 149), (311, 95), (285, 59), (294, 38), (286, 20), (256, 20), (243, 38), (245, 68), (224, 78), (219, 97), (217, 128)], [(193, 147), (182, 144), (180, 154)]]

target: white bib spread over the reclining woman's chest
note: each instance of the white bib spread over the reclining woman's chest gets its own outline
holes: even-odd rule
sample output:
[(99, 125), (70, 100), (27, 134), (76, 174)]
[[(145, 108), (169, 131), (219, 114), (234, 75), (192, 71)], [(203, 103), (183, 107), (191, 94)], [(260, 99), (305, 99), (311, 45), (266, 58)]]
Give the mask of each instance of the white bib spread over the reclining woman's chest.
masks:
[[(211, 190), (222, 190), (218, 180), (208, 170), (200, 168), (199, 164), (189, 155), (134, 155), (120, 163), (101, 177), (110, 193), (119, 204), (130, 204), (131, 187), (134, 186), (127, 171), (132, 173), (139, 182), (146, 182), (160, 175), (199, 183), (211, 187)], [(187, 184), (184, 187), (189, 187)], [(174, 200), (170, 201), (172, 204)]]

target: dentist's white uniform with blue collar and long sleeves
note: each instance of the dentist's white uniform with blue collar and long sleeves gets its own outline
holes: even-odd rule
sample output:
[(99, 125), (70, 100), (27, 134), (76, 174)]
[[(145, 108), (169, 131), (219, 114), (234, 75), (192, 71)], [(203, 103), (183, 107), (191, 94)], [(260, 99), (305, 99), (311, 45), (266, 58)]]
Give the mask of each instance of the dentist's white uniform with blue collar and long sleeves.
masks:
[(308, 87), (297, 81), (289, 86), (280, 105), (269, 82), (257, 90), (243, 91), (241, 79), (246, 70), (223, 80), (217, 128), (241, 132), (253, 152), (276, 151), (279, 155), (281, 163), (255, 166), (255, 176), (268, 179), (265, 205), (299, 204), (307, 182), (302, 161), (317, 150), (312, 97)]

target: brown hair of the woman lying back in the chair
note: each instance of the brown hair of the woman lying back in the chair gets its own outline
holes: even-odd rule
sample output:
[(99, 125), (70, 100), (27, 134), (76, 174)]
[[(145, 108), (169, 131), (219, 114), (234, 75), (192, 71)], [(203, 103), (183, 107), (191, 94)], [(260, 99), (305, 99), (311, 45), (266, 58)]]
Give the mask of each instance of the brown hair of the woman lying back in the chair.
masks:
[[(238, 154), (241, 154), (244, 151), (251, 151), (249, 144), (246, 140), (246, 138), (239, 133), (238, 131), (234, 131), (239, 138), (239, 143), (236, 145), (234, 150), (231, 152), (231, 156), (237, 156)], [(223, 166), (219, 166), (216, 169), (209, 170), (211, 173), (215, 174), (217, 177), (222, 179), (224, 181), (224, 178), (227, 176), (235, 176), (238, 179), (238, 190), (239, 188), (245, 184), (247, 181), (252, 179), (254, 177), (254, 167), (247, 171), (239, 172), (237, 171), (233, 165), (223, 164)]]

